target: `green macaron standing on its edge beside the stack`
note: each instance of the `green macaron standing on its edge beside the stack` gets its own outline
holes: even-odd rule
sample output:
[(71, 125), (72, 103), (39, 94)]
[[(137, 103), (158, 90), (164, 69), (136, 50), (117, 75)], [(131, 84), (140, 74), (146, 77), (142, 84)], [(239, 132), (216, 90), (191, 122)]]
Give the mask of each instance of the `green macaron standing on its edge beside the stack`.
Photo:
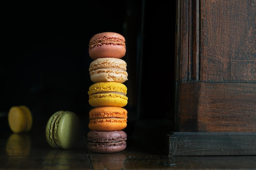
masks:
[(74, 147), (80, 133), (79, 117), (70, 111), (58, 111), (48, 120), (45, 128), (47, 142), (53, 148)]

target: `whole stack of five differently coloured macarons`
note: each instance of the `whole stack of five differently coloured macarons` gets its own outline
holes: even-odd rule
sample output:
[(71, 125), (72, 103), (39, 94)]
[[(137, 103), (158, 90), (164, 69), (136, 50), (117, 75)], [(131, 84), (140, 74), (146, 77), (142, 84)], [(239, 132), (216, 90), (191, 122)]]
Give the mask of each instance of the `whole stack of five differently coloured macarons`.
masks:
[(94, 35), (89, 42), (90, 79), (89, 87), (90, 131), (87, 134), (88, 149), (93, 152), (113, 153), (126, 148), (127, 87), (125, 38), (119, 33), (103, 32)]

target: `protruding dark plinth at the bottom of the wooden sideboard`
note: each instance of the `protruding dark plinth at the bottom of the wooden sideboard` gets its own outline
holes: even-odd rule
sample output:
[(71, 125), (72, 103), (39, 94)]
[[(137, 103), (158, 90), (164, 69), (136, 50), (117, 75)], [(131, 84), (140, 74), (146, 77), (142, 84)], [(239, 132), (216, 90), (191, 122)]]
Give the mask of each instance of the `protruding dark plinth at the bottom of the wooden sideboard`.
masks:
[(256, 155), (256, 133), (174, 132), (170, 155)]

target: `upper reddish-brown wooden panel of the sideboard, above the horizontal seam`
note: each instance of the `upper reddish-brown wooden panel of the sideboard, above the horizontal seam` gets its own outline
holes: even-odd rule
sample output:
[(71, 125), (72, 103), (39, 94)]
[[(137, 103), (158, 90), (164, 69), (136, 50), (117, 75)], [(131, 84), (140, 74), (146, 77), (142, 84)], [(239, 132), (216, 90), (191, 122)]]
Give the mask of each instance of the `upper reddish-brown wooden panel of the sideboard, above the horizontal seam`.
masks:
[(256, 1), (200, 3), (200, 80), (255, 83)]

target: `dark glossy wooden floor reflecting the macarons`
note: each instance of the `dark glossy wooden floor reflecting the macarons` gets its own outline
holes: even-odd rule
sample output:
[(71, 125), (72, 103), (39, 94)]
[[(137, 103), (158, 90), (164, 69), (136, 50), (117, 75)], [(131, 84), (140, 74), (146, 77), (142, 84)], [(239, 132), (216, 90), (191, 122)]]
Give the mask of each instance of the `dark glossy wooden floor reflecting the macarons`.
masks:
[(86, 147), (80, 135), (69, 150), (51, 148), (44, 128), (26, 134), (1, 130), (0, 169), (6, 170), (248, 170), (256, 169), (256, 156), (166, 156), (128, 136), (126, 150), (99, 154)]

